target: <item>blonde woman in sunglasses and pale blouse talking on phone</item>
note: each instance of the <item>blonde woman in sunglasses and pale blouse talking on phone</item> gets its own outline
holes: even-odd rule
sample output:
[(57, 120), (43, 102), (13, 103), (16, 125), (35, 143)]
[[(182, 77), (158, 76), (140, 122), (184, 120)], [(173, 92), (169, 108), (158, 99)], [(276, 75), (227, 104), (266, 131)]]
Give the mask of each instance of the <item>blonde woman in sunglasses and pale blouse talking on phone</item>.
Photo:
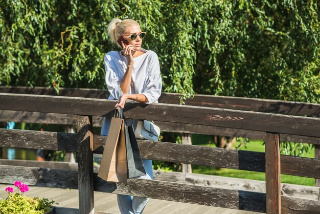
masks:
[[(162, 79), (156, 53), (141, 48), (145, 32), (132, 19), (112, 19), (108, 26), (111, 41), (122, 51), (111, 51), (104, 57), (105, 80), (110, 96), (108, 99), (119, 100), (115, 108), (124, 108), (127, 100), (133, 102), (156, 103), (161, 95)], [(125, 42), (118, 44), (123, 36)], [(125, 45), (126, 41), (128, 45)], [(101, 135), (108, 135), (111, 118), (103, 120)], [(138, 120), (127, 120), (128, 125), (136, 127)], [(152, 162), (143, 160), (146, 176), (152, 179)], [(142, 213), (148, 198), (117, 195), (121, 213)]]

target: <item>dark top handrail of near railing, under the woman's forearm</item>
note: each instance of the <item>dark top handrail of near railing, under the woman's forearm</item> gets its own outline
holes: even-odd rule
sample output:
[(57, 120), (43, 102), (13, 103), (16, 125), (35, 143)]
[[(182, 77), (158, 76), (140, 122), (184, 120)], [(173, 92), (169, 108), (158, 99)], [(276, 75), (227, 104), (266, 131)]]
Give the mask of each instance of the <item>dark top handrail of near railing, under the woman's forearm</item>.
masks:
[[(0, 100), (2, 100), (1, 110), (92, 116), (112, 116), (116, 102), (92, 98), (6, 93), (0, 93)], [(320, 137), (319, 118), (161, 103), (150, 105), (127, 103), (125, 111), (127, 118)]]

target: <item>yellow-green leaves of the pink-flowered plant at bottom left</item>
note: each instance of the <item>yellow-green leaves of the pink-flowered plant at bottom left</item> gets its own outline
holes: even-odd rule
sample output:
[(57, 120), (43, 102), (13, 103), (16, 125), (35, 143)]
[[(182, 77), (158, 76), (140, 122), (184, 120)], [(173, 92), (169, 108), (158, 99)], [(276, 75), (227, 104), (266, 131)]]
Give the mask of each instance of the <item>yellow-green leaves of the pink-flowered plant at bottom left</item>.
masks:
[(31, 198), (21, 196), (18, 192), (14, 194), (8, 193), (8, 198), (0, 200), (0, 214), (43, 214), (52, 211), (54, 201), (49, 201), (47, 198), (40, 199), (38, 197)]

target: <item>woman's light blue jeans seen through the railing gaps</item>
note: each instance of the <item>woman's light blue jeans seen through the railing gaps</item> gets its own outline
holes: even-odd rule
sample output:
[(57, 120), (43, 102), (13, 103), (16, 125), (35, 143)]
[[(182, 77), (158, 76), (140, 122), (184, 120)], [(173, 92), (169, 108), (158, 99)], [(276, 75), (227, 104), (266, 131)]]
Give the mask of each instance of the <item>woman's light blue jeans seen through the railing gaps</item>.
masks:
[[(102, 123), (101, 135), (107, 136), (110, 127), (111, 118), (105, 117)], [(135, 129), (138, 120), (127, 119), (128, 125), (132, 124)], [(152, 173), (152, 160), (143, 159), (143, 165), (145, 167), (147, 175), (140, 176), (142, 179), (153, 179)], [(122, 214), (140, 214), (147, 205), (149, 198), (127, 196), (127, 195), (117, 195), (118, 206)]]

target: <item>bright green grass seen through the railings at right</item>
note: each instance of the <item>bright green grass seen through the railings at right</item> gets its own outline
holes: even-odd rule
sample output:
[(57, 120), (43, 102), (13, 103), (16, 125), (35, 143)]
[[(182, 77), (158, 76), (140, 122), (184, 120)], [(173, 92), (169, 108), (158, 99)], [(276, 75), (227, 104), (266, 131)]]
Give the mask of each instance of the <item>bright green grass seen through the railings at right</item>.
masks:
[[(263, 142), (264, 141), (262, 140), (250, 140), (250, 142), (246, 143), (245, 146), (241, 146), (239, 150), (265, 152), (265, 147)], [(192, 135), (192, 144), (215, 147), (215, 144), (212, 143), (211, 137), (206, 135)], [(236, 142), (233, 147), (235, 148), (239, 144), (240, 142)], [(311, 151), (309, 151), (309, 153), (304, 154), (302, 157), (314, 158), (314, 148), (312, 148)], [(265, 181), (265, 173), (251, 172), (251, 171), (238, 170), (238, 169), (192, 165), (192, 172), (198, 173), (198, 174), (206, 174), (206, 175), (216, 175), (216, 176)], [(305, 177), (299, 177), (299, 176), (281, 175), (281, 182), (314, 186), (313, 178), (305, 178)]]

